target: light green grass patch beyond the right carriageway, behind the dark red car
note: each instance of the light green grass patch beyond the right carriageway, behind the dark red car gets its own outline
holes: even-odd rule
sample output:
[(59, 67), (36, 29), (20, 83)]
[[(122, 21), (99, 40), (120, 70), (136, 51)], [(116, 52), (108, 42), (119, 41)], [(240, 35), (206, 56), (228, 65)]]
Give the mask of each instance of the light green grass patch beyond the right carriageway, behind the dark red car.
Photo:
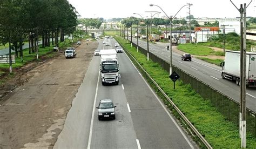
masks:
[[(214, 51), (211, 48), (208, 48), (207, 46), (201, 45), (201, 44), (194, 44), (194, 43), (179, 44), (177, 48), (181, 51), (184, 51), (186, 53), (190, 53), (191, 55), (196, 55), (196, 56), (225, 56), (224, 52)], [(197, 57), (197, 58), (215, 65), (219, 65), (220, 62), (223, 62), (223, 59), (211, 59), (211, 58), (205, 58), (205, 57)]]

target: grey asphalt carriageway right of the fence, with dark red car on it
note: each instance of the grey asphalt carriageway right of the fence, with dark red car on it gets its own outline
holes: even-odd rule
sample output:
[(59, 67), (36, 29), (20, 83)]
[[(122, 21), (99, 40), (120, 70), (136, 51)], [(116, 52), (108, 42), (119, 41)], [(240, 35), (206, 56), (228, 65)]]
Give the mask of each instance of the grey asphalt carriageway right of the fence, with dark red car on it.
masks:
[[(137, 44), (137, 38), (133, 38), (132, 42)], [(166, 49), (166, 46), (169, 44), (170, 43), (159, 45), (149, 43), (149, 51), (154, 55), (165, 59), (167, 62), (170, 62), (170, 51), (167, 51)], [(147, 49), (146, 41), (139, 39), (139, 46)], [(174, 49), (177, 47), (172, 46), (172, 48)], [(172, 52), (172, 64), (240, 103), (240, 86), (237, 86), (231, 80), (221, 78), (220, 66), (206, 63), (203, 60), (194, 57), (192, 57), (192, 62), (184, 62), (181, 60), (181, 55), (176, 52)], [(246, 107), (255, 112), (256, 87), (247, 87), (246, 93)]]

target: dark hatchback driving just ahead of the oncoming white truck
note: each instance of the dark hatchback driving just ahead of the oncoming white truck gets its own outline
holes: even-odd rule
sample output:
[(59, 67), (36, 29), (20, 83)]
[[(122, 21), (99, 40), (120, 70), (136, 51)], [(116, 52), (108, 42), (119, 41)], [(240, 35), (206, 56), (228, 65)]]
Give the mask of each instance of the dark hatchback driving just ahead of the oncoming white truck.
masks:
[(102, 120), (103, 118), (112, 118), (116, 119), (116, 113), (114, 112), (113, 101), (111, 99), (102, 99), (99, 101), (98, 109), (98, 119)]

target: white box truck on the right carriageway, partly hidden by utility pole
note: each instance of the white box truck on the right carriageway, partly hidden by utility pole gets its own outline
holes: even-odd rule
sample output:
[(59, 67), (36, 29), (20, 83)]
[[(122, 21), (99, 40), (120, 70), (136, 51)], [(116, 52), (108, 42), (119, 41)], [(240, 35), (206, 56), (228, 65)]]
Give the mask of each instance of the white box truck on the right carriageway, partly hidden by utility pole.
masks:
[[(225, 61), (220, 63), (223, 79), (235, 80), (240, 85), (240, 51), (226, 50)], [(256, 53), (246, 52), (246, 85), (256, 87)]]

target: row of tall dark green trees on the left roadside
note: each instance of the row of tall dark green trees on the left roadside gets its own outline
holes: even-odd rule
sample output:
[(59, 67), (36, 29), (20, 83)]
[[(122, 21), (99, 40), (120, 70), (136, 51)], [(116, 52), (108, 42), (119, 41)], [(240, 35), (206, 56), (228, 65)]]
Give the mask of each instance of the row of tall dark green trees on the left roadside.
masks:
[[(64, 41), (64, 36), (76, 30), (76, 9), (68, 0), (1, 0), (0, 43), (11, 43), (15, 56), (22, 57), (22, 45), (29, 41), (29, 53), (36, 51), (36, 40), (42, 38), (42, 46), (55, 46)], [(38, 36), (37, 36), (38, 35)], [(18, 55), (19, 52), (19, 55)]]

